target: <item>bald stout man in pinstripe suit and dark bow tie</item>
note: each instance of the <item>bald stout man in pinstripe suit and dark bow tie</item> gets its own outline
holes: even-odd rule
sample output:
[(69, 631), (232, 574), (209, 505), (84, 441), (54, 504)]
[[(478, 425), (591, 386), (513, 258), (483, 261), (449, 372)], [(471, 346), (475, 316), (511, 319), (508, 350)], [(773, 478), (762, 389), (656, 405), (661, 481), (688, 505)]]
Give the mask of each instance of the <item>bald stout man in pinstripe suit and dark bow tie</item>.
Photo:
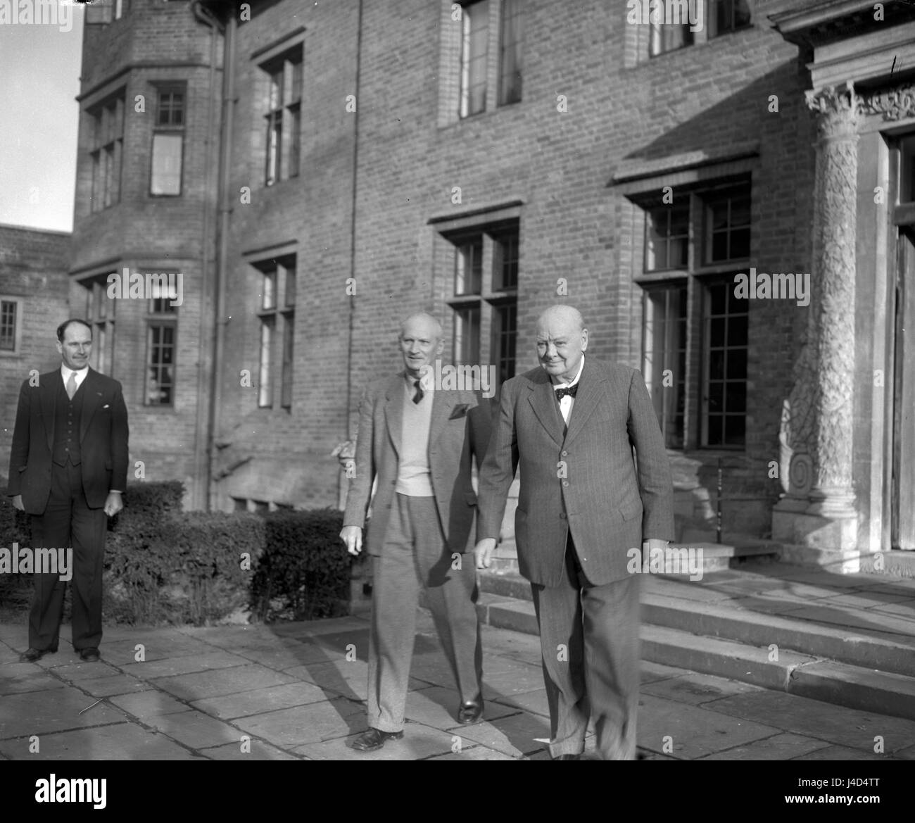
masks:
[(490, 565), (520, 466), (515, 538), (540, 627), (550, 753), (578, 760), (590, 714), (599, 756), (632, 760), (639, 587), (628, 552), (673, 538), (673, 484), (640, 373), (586, 349), (581, 315), (554, 306), (537, 323), (540, 366), (502, 384), (479, 476), (476, 560)]

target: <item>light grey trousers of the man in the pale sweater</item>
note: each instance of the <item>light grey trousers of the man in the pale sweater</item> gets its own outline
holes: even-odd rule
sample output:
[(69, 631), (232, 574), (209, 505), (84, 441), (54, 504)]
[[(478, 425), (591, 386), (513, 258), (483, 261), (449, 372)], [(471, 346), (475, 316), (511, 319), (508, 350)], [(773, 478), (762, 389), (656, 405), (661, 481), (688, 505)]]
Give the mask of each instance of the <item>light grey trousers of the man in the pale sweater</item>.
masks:
[[(447, 550), (433, 497), (396, 494), (382, 555), (374, 558), (369, 633), (369, 725), (404, 728), (419, 590), (436, 623), (461, 701), (482, 693), (483, 651), (473, 554)], [(457, 709), (457, 707), (456, 707)]]

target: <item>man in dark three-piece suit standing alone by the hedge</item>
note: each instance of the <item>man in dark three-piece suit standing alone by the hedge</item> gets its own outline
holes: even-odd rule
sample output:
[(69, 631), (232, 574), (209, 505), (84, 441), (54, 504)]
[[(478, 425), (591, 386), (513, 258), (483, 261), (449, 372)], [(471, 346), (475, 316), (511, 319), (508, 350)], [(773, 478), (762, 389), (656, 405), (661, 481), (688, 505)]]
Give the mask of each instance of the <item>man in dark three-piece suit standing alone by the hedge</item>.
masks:
[[(121, 384), (89, 367), (88, 323), (66, 320), (57, 339), (60, 368), (19, 391), (7, 494), (32, 515), (33, 547), (72, 547), (73, 648), (94, 662), (102, 642), (105, 515), (121, 510), (127, 483), (127, 408)], [(66, 586), (57, 574), (36, 573), (20, 660), (57, 651)]]

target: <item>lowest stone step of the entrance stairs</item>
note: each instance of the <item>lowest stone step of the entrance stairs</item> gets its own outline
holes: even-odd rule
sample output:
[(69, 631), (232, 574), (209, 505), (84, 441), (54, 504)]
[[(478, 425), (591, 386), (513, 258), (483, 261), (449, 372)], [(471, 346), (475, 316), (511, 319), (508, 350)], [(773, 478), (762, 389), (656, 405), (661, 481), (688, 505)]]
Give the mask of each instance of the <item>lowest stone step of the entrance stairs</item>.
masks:
[[(694, 607), (707, 609), (708, 604), (696, 603)], [(483, 593), (477, 610), (482, 623), (515, 632), (537, 633), (532, 601)], [(727, 619), (727, 625), (733, 626), (733, 617), (718, 614), (716, 620)], [(809, 643), (811, 636), (816, 636), (817, 643), (823, 644), (823, 647), (834, 647), (836, 642), (834, 633), (817, 633), (812, 625), (799, 625), (792, 631), (793, 635), (784, 636), (796, 637), (798, 644)], [(741, 643), (648, 622), (642, 623), (640, 634), (642, 658), (653, 663), (680, 666), (764, 688), (780, 689), (851, 709), (866, 709), (915, 720), (915, 677), (906, 674), (823, 659), (823, 656), (805, 654), (788, 646), (780, 646), (777, 659), (770, 659), (774, 655), (769, 644)], [(903, 648), (889, 642), (877, 642), (876, 638), (862, 638), (862, 641), (849, 644), (849, 647), (856, 647), (854, 654), (857, 659), (872, 659), (877, 653), (888, 651), (893, 665), (904, 667), (899, 663), (904, 655)]]

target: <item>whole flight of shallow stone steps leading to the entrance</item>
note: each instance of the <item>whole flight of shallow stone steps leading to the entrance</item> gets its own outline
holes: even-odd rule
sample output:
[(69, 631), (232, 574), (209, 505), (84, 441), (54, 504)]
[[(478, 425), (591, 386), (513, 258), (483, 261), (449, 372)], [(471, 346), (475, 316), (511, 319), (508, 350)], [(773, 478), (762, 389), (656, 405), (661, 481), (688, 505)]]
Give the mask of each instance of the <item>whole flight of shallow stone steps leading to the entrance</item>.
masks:
[[(915, 579), (773, 562), (769, 541), (701, 545), (701, 580), (644, 575), (644, 659), (915, 720)], [(480, 574), (480, 618), (537, 633), (511, 555)]]

